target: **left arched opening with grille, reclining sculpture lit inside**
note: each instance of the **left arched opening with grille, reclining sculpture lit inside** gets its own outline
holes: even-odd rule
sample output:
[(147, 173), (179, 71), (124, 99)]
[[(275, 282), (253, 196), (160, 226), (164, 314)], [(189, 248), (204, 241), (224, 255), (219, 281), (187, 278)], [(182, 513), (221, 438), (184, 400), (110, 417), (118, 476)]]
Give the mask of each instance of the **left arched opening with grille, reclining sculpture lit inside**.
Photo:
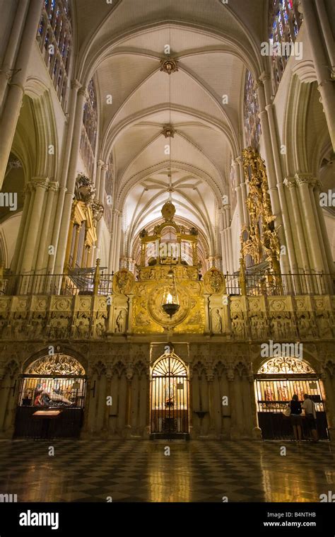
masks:
[(86, 375), (68, 354), (47, 354), (22, 375), (14, 437), (79, 437), (83, 424)]

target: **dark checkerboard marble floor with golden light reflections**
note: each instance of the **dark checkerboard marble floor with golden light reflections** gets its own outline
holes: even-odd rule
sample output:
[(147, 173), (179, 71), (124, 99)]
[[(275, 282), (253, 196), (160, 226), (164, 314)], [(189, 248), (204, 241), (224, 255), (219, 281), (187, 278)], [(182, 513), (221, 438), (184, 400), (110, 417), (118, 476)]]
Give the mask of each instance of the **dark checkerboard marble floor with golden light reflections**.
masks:
[(335, 491), (334, 454), (328, 441), (1, 440), (0, 494), (18, 502), (319, 502)]

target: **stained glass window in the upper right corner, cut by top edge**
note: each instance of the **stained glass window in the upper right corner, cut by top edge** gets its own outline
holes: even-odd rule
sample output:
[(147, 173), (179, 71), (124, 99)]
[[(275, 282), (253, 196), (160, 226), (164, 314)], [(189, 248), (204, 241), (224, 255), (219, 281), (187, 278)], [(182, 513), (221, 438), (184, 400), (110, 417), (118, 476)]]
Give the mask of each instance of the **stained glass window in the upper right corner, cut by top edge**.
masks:
[[(275, 93), (289, 58), (288, 49), (283, 52), (281, 45), (295, 42), (301, 22), (302, 15), (298, 11), (298, 0), (270, 1), (269, 42), (274, 45), (271, 66)], [(276, 47), (281, 47), (280, 53), (277, 52)]]

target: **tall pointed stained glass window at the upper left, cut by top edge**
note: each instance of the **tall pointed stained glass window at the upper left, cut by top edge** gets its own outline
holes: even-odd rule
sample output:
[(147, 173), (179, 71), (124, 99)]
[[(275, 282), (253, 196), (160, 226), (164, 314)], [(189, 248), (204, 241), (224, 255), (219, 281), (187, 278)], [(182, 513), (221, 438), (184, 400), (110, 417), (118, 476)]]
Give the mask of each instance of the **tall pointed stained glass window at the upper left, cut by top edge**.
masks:
[(37, 42), (63, 109), (66, 106), (69, 81), (71, 32), (69, 0), (45, 0), (37, 30)]

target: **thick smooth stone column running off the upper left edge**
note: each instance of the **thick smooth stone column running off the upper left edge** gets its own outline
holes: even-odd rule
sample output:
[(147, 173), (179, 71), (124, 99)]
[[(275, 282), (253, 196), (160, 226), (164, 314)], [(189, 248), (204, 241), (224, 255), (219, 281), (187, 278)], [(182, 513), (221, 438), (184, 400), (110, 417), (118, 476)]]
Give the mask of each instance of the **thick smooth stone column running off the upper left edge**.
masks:
[(41, 0), (30, 0), (25, 26), (20, 37), (16, 64), (9, 83), (7, 98), (0, 119), (0, 188), (4, 182), (7, 162), (16, 131), (18, 115), (23, 99), (28, 74), (30, 53), (35, 45), (38, 24), (42, 11)]

